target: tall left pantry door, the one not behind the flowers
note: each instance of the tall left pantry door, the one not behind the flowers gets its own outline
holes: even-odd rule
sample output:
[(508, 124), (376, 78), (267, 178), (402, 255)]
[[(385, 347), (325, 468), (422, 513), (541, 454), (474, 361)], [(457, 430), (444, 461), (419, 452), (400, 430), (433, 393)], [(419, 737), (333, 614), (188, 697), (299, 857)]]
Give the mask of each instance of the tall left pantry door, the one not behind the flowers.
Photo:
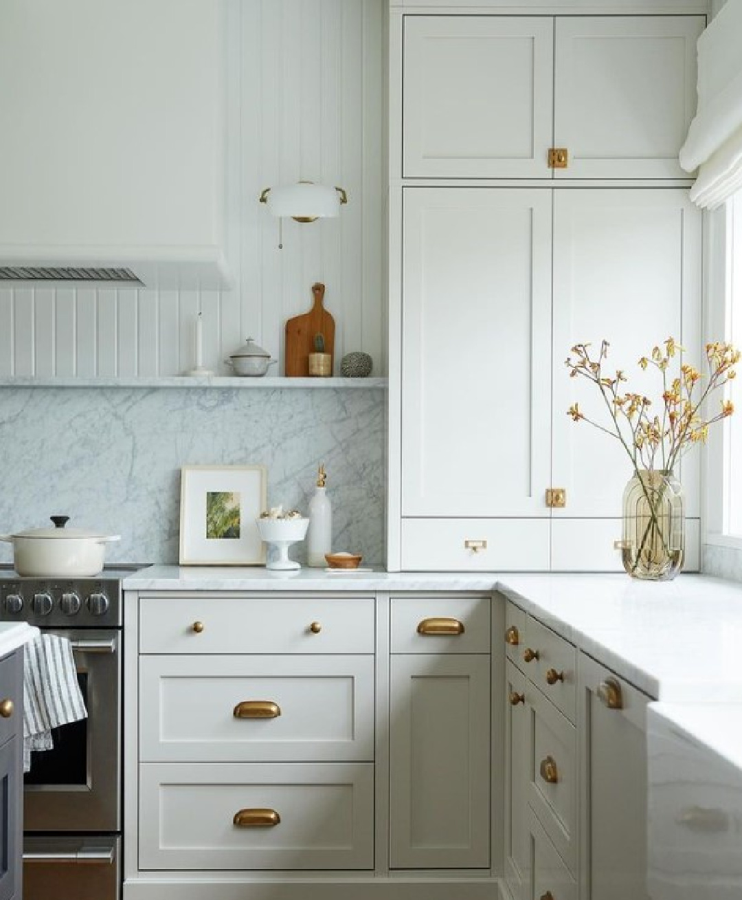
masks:
[(549, 189), (405, 189), (403, 517), (544, 516), (550, 234)]

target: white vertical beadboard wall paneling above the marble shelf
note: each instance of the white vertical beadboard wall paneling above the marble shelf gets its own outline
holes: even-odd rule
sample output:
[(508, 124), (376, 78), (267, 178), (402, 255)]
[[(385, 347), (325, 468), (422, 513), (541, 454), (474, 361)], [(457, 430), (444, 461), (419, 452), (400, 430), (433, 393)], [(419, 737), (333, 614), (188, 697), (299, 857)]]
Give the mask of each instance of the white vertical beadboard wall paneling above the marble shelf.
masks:
[[(335, 365), (351, 350), (386, 374), (384, 276), (385, 0), (225, 0), (229, 291), (106, 287), (0, 289), (0, 377), (151, 376), (204, 365), (247, 337), (279, 359), (285, 321), (326, 284)], [(279, 220), (258, 196), (306, 179), (349, 196), (335, 220)]]

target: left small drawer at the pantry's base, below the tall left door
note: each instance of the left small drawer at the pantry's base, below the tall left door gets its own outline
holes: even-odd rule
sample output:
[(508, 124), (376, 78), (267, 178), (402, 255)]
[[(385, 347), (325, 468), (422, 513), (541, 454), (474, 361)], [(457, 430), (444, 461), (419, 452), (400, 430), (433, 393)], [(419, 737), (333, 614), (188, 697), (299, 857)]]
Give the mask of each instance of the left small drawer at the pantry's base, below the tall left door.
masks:
[(403, 571), (546, 572), (549, 542), (548, 518), (403, 518), (400, 524)]

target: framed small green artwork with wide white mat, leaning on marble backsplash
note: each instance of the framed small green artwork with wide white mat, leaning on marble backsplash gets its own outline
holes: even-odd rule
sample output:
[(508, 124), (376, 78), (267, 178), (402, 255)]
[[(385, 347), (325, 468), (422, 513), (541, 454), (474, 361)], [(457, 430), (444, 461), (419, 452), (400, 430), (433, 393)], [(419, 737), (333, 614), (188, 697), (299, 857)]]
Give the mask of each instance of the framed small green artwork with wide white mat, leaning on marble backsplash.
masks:
[(181, 565), (264, 565), (255, 519), (265, 509), (264, 465), (181, 469)]

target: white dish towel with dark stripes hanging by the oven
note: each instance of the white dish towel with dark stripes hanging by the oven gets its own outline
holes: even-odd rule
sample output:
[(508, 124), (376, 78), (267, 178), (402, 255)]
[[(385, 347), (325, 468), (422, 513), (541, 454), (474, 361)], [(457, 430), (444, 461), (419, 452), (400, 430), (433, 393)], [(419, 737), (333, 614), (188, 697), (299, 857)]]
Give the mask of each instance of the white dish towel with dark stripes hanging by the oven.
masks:
[(66, 637), (39, 635), (23, 653), (23, 771), (31, 751), (51, 750), (51, 729), (87, 716)]

